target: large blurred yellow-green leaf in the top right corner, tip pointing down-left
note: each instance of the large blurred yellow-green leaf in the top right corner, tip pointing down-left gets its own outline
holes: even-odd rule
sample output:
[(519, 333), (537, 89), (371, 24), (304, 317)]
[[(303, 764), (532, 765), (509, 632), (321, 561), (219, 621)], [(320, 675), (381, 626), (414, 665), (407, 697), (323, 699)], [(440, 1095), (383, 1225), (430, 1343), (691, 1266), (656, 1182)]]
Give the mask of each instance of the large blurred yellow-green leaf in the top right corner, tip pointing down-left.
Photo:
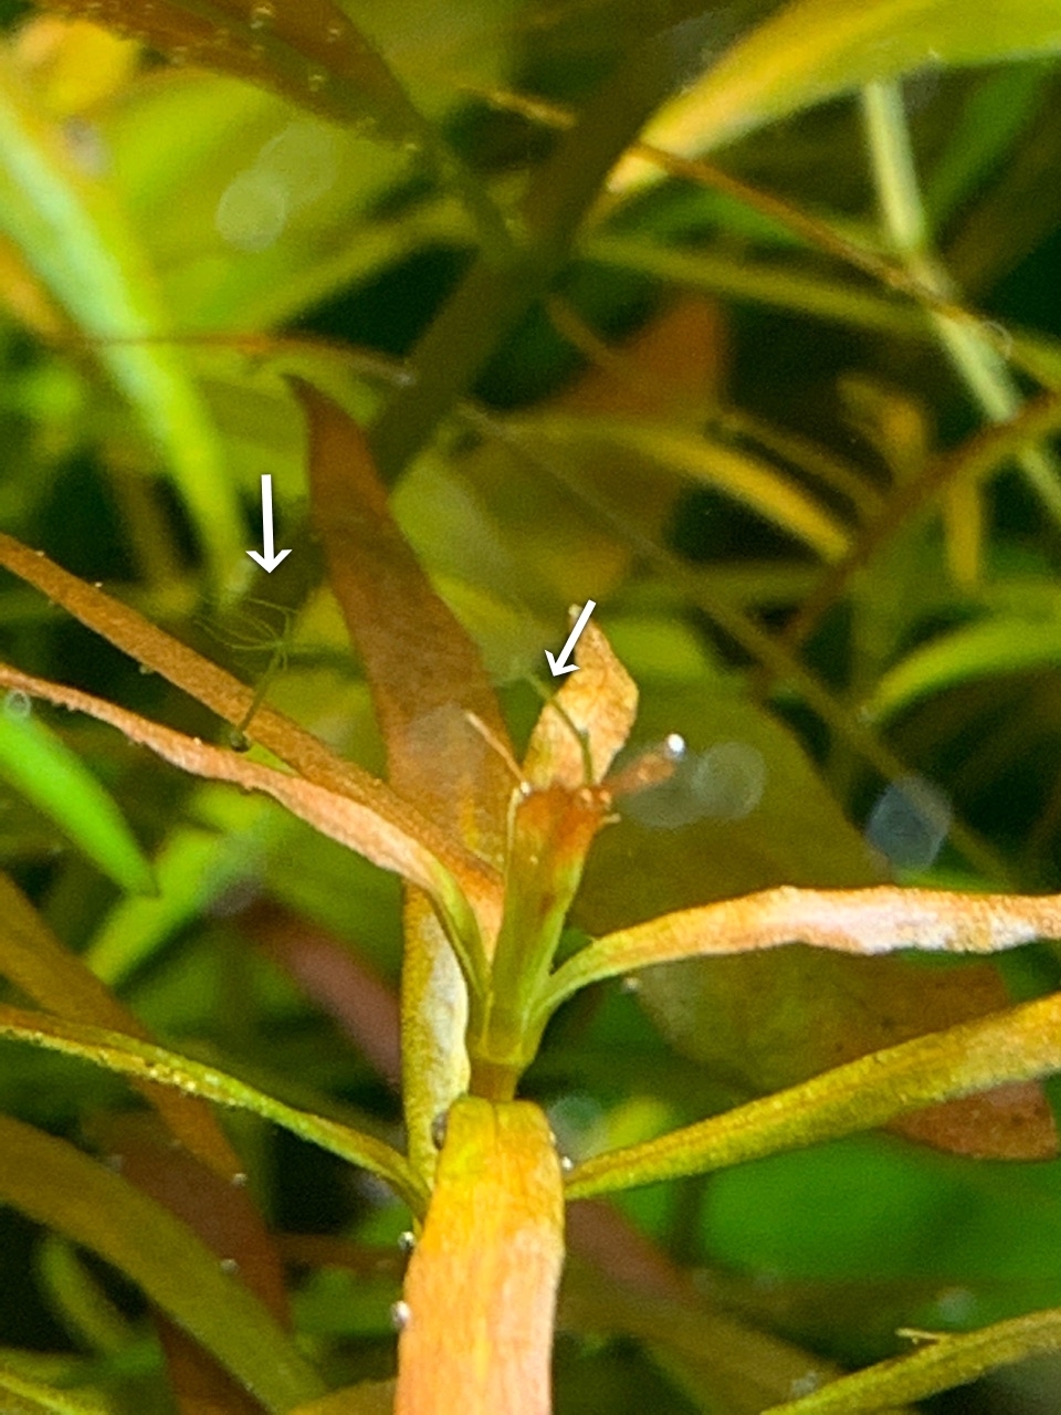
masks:
[[(1054, 0), (792, 0), (666, 103), (645, 132), (693, 157), (741, 133), (925, 65), (996, 64), (1061, 50)], [(628, 158), (613, 185), (655, 180)]]

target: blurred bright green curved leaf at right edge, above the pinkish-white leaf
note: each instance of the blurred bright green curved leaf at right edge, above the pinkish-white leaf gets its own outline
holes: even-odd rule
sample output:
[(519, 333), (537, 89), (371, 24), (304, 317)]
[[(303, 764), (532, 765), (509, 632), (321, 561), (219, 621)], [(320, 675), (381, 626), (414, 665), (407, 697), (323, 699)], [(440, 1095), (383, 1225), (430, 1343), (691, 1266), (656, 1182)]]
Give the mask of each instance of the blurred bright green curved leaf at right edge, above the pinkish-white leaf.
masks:
[(924, 698), (979, 678), (1034, 672), (1061, 664), (1061, 623), (993, 616), (931, 640), (888, 669), (863, 703), (888, 722)]

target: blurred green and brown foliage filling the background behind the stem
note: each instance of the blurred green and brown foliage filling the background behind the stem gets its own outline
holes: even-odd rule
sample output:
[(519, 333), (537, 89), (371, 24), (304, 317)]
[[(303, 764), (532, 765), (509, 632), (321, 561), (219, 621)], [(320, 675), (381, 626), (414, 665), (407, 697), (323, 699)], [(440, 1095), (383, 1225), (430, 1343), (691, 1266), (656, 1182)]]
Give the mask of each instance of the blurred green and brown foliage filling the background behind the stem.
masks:
[[(638, 747), (689, 741), (600, 841), (579, 930), (778, 882), (1061, 889), (1061, 28), (1031, 0), (1007, 23), (922, 8), (349, 0), (389, 69), (362, 57), (342, 88), (270, 74), (277, 0), (240, 51), (270, 91), (209, 71), (239, 69), (229, 38), (163, 44), (147, 6), (65, 7), (103, 30), (4, 0), (0, 525), (379, 770), (308, 532), (298, 372), (373, 424), (516, 733), (593, 597), (641, 685)], [(792, 11), (799, 45), (782, 28), (757, 57)], [(847, 42), (854, 13), (879, 28)], [(740, 44), (712, 98), (699, 74)], [(637, 75), (661, 54), (652, 99)], [(610, 161), (564, 157), (574, 116), (614, 109), (618, 156), (668, 89), (647, 139), (717, 147), (721, 171), (628, 161), (604, 184)], [(983, 432), (1014, 416), (1038, 423)], [(245, 555), (263, 473), (293, 546), (269, 579)], [(8, 577), (0, 631), (27, 671), (226, 740)], [(0, 722), (0, 863), (50, 928), (174, 1047), (395, 1139), (396, 883), (269, 802), (28, 712), (10, 695)], [(78, 795), (88, 771), (112, 804)], [(802, 952), (600, 989), (529, 1094), (583, 1156), (1058, 982), (1047, 947), (945, 974)], [(867, 1136), (632, 1194), (627, 1265), (583, 1215), (557, 1408), (751, 1415), (908, 1348), (897, 1329), (1061, 1305), (1061, 1166), (1021, 1104), (1000, 1102), (1009, 1150), (982, 1114), (948, 1132), (990, 1159)], [(109, 1155), (129, 1105), (3, 1044), (8, 1115)], [(265, 1122), (226, 1125), (303, 1351), (330, 1385), (389, 1374), (407, 1215)], [(4, 1361), (88, 1402), (10, 1408), (170, 1409), (136, 1289), (13, 1208), (0, 1234)], [(733, 1330), (806, 1374), (764, 1397)], [(1054, 1411), (1058, 1382), (1026, 1365), (925, 1408)]]

